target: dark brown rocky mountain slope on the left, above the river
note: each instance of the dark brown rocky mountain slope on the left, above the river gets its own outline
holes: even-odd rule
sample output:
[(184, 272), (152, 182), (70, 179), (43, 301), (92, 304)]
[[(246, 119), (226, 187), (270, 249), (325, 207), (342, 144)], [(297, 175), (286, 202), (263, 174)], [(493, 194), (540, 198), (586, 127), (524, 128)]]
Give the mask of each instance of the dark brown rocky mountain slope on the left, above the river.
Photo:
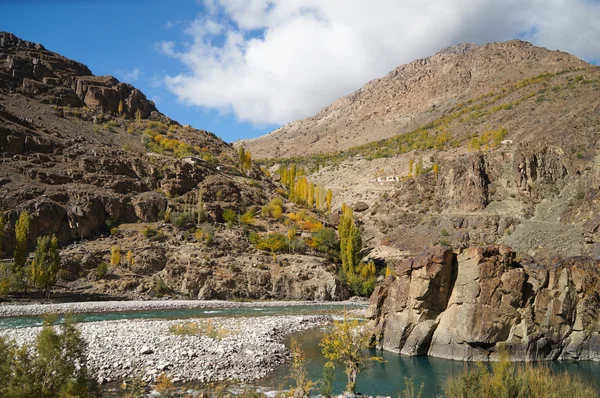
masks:
[[(135, 87), (4, 32), (0, 162), (4, 257), (15, 247), (19, 214), (28, 211), (30, 248), (42, 235), (62, 245), (58, 285), (66, 292), (346, 294), (335, 265), (318, 251), (276, 258), (249, 242), (252, 232), (285, 234), (287, 226), (254, 217), (278, 186), (257, 166), (244, 167), (231, 146), (169, 119)], [(283, 207), (284, 216), (298, 211), (286, 201)], [(237, 214), (230, 228), (227, 211)], [(247, 211), (252, 217), (242, 223)], [(111, 251), (121, 259), (103, 269)]]

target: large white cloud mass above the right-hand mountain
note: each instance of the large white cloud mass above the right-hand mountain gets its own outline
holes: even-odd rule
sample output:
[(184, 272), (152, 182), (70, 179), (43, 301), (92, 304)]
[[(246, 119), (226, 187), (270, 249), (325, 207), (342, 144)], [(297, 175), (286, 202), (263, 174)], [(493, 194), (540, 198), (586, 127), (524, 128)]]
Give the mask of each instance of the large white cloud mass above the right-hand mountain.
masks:
[(157, 49), (183, 102), (284, 124), (310, 116), (400, 64), (461, 42), (517, 38), (584, 59), (600, 55), (592, 0), (206, 0), (189, 42)]

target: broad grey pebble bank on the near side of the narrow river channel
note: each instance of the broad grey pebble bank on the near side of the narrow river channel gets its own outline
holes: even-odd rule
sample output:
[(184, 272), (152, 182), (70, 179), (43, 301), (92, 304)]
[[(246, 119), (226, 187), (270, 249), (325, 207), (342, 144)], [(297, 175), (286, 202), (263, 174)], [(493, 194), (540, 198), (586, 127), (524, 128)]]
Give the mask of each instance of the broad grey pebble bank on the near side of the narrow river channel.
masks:
[[(314, 329), (330, 316), (103, 321), (77, 324), (88, 345), (88, 366), (102, 383), (165, 373), (173, 381), (250, 381), (285, 362), (283, 338)], [(7, 329), (0, 336), (32, 344), (41, 328)], [(179, 334), (178, 334), (179, 333)]]

